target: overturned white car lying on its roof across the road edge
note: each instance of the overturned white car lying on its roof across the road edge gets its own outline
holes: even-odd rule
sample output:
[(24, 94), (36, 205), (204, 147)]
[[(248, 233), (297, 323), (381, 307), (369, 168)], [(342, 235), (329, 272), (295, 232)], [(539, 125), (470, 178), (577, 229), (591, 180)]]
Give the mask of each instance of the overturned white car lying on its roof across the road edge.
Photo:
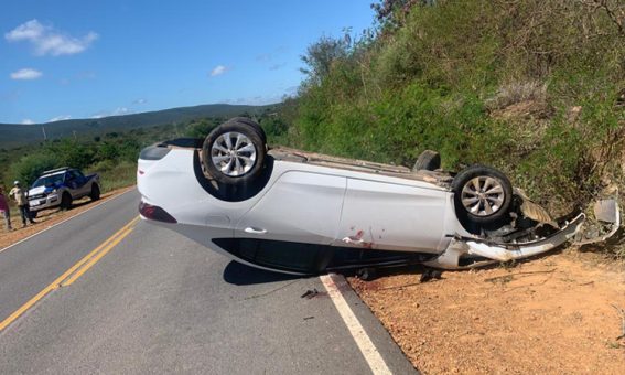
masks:
[(551, 219), (492, 168), (439, 168), (433, 152), (410, 170), (269, 149), (260, 126), (235, 118), (204, 141), (141, 152), (140, 214), (239, 262), (303, 275), (519, 259), (565, 243), (584, 221)]

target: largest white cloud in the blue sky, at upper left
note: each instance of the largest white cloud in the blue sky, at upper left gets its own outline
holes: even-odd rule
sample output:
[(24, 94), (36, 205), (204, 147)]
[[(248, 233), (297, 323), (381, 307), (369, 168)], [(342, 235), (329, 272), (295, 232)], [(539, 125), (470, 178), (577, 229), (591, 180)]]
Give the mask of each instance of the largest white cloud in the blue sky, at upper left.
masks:
[(40, 56), (58, 56), (85, 51), (98, 39), (98, 34), (90, 31), (83, 38), (75, 38), (43, 25), (37, 20), (30, 20), (6, 33), (4, 39), (9, 42), (30, 42), (35, 54)]

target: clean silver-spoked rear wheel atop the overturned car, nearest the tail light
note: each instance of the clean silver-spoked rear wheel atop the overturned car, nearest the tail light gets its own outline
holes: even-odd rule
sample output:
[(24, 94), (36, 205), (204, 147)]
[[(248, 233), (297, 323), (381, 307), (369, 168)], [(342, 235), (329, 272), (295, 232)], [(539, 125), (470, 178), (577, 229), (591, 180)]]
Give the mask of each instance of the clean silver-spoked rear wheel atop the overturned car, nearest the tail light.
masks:
[(255, 127), (227, 121), (214, 129), (202, 146), (204, 169), (217, 182), (244, 184), (262, 171), (267, 144)]

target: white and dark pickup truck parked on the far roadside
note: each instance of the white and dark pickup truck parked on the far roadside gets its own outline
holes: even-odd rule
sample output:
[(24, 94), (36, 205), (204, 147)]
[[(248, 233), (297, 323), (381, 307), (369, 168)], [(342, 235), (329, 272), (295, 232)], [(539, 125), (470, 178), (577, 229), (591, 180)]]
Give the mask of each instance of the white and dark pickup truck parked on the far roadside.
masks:
[(72, 207), (74, 200), (89, 196), (100, 199), (100, 178), (98, 174), (85, 176), (73, 168), (58, 168), (45, 171), (29, 190), (29, 205), (33, 216), (39, 211), (61, 206)]

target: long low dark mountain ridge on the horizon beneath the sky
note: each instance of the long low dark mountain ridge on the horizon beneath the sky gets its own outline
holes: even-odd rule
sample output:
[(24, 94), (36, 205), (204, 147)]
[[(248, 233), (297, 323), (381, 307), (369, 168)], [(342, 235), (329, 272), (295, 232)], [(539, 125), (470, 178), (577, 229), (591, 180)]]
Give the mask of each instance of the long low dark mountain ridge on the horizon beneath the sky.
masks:
[(149, 128), (159, 125), (186, 122), (204, 117), (235, 117), (243, 114), (256, 115), (272, 106), (235, 106), (227, 104), (211, 104), (195, 107), (180, 107), (164, 110), (62, 120), (47, 124), (0, 124), (0, 148), (9, 149), (26, 143), (41, 142), (43, 128), (47, 139), (76, 136), (96, 136), (111, 131), (126, 131), (138, 128)]

